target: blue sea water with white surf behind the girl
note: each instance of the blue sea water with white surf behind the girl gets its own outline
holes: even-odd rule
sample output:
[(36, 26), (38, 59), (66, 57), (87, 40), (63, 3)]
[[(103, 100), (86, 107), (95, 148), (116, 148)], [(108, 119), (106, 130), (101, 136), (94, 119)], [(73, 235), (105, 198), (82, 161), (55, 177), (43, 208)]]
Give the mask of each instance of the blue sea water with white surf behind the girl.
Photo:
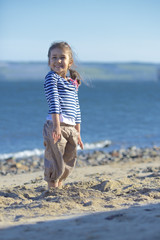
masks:
[[(41, 154), (42, 81), (0, 81), (0, 159)], [(160, 82), (94, 81), (79, 88), (85, 149), (160, 145)]]

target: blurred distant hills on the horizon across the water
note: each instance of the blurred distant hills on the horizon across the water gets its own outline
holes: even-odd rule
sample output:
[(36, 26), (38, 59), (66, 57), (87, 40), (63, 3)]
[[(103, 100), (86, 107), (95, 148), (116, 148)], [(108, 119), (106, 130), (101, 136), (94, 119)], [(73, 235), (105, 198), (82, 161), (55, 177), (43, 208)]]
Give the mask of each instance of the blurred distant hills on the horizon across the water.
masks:
[[(160, 64), (89, 63), (77, 66), (84, 80), (158, 81)], [(0, 81), (39, 80), (49, 71), (45, 62), (0, 62)]]

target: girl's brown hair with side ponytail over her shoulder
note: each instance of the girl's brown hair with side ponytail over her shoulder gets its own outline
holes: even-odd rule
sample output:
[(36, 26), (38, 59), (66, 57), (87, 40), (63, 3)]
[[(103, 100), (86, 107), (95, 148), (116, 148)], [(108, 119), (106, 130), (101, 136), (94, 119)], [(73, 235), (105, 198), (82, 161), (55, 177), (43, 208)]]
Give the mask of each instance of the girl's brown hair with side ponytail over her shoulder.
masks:
[[(52, 43), (49, 50), (48, 50), (48, 59), (50, 58), (51, 51), (55, 48), (66, 49), (68, 51), (70, 61), (73, 62), (73, 64), (74, 64), (73, 52), (72, 52), (72, 49), (67, 42), (54, 42), (54, 43)], [(80, 74), (72, 68), (69, 68), (68, 70), (69, 70), (70, 77), (74, 80), (76, 79), (78, 84), (80, 85), (81, 84)]]

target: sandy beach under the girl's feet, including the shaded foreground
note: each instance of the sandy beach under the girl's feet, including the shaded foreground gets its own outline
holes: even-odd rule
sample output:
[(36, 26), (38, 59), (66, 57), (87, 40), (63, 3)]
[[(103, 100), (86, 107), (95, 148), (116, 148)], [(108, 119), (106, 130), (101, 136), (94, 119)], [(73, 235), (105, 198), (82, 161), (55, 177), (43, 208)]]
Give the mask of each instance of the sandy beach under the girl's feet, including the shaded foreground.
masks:
[(159, 240), (159, 150), (114, 151), (112, 161), (82, 155), (63, 188), (50, 191), (42, 169), (3, 174), (0, 239)]

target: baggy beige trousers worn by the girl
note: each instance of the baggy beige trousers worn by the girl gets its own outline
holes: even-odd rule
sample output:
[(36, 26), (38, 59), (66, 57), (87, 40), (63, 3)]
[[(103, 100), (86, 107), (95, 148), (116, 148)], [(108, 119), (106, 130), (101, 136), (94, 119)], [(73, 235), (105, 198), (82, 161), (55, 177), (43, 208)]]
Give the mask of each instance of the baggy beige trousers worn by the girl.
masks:
[(47, 182), (65, 180), (74, 168), (77, 158), (78, 132), (74, 126), (62, 124), (61, 139), (54, 143), (53, 122), (46, 121), (44, 137), (44, 179)]

